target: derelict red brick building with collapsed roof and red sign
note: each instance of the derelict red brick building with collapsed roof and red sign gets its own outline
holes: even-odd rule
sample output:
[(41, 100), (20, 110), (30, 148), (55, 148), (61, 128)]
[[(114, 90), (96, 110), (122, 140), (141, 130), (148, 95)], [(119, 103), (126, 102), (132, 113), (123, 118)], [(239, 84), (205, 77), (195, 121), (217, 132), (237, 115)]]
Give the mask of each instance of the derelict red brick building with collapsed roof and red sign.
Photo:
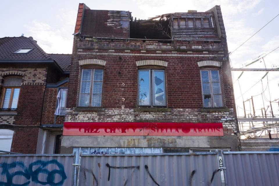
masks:
[(220, 6), (133, 19), (79, 4), (61, 153), (238, 150)]

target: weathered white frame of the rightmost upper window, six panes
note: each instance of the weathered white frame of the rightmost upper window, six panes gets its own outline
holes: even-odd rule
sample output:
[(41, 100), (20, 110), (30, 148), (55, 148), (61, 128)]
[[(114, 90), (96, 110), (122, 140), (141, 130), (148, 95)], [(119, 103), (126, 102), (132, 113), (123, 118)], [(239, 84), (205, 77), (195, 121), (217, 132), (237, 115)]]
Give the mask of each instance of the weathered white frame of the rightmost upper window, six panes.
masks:
[[(218, 71), (219, 82), (217, 82), (217, 81), (213, 81), (212, 82), (212, 78), (211, 78), (211, 71), (212, 70)], [(202, 81), (201, 71), (208, 71), (209, 82), (203, 82)], [(202, 94), (202, 99), (203, 99), (203, 107), (204, 108), (223, 108), (224, 107), (224, 101), (223, 101), (223, 93), (222, 93), (222, 87), (221, 87), (220, 70), (219, 69), (214, 69), (214, 68), (200, 69), (200, 76), (201, 76), (201, 91), (202, 91), (201, 94)], [(203, 83), (209, 83), (209, 85), (210, 85), (210, 97), (211, 97), (210, 100), (211, 100), (211, 105), (212, 105), (211, 107), (205, 107), (205, 104), (204, 104), (204, 94), (203, 94)], [(212, 83), (219, 83), (220, 84), (220, 91), (221, 91), (220, 94), (213, 94)], [(205, 95), (209, 95), (209, 94), (205, 94)], [(214, 95), (221, 95), (221, 103), (222, 103), (221, 106), (217, 107), (217, 106), (214, 105)]]

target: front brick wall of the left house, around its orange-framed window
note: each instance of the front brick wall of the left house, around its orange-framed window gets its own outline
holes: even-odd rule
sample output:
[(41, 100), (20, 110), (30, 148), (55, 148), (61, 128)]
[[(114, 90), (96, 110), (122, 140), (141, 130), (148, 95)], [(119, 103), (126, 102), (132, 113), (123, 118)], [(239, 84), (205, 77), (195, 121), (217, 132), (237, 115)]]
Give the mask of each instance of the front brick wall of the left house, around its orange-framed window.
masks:
[[(1, 87), (5, 76), (22, 76), (17, 115), (1, 115), (0, 117), (1, 128), (15, 131), (12, 152), (36, 153), (47, 68), (46, 64), (36, 63), (0, 64)], [(12, 124), (12, 126), (5, 124)]]

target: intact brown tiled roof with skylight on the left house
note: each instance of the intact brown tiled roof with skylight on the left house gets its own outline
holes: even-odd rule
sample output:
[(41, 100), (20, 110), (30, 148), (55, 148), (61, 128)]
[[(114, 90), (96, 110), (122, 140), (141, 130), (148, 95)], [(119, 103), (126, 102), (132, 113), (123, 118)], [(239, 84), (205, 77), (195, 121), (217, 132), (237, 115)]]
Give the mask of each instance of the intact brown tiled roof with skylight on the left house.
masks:
[[(20, 49), (26, 50), (26, 53), (16, 53)], [(0, 61), (6, 62), (12, 60), (18, 61), (40, 61), (55, 62), (58, 68), (63, 71), (70, 70), (71, 54), (47, 54), (33, 37), (3, 37), (0, 38)]]

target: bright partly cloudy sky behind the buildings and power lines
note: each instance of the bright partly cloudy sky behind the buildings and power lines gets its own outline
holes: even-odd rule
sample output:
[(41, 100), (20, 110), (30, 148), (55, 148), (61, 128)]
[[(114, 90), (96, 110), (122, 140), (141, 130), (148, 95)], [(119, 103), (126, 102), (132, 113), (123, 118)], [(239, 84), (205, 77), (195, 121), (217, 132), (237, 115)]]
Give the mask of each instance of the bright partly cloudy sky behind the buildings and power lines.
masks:
[[(37, 40), (39, 46), (47, 53), (71, 53), (78, 3), (85, 3), (90, 9), (96, 10), (128, 10), (137, 19), (147, 19), (171, 12), (187, 12), (187, 10), (204, 12), (215, 5), (220, 5), (230, 52), (279, 14), (278, 0), (10, 0), (1, 2), (0, 37), (20, 36), (23, 33), (24, 36), (32, 36)], [(231, 53), (229, 57), (232, 67), (243, 67), (259, 56), (261, 58), (279, 47), (278, 30), (279, 16), (242, 47)], [(278, 56), (279, 49), (247, 68), (279, 67)], [(243, 101), (251, 96), (255, 96), (253, 99), (256, 115), (262, 115), (260, 109), (263, 107), (270, 115), (270, 108), (267, 107), (269, 101), (279, 99), (279, 73), (270, 71), (262, 81), (260, 80), (265, 74), (264, 71), (244, 71), (237, 80), (240, 73), (241, 71), (234, 71), (232, 74), (233, 82), (235, 82), (234, 92), (238, 115), (244, 115)], [(252, 87), (252, 85), (254, 86)], [(250, 87), (252, 88), (250, 89)], [(262, 92), (264, 92), (263, 96)], [(260, 95), (256, 96), (257, 94)], [(249, 101), (246, 101), (245, 104), (246, 110), (248, 110), (246, 114), (250, 113)], [(272, 103), (272, 107), (274, 114), (279, 117), (278, 103)]]

